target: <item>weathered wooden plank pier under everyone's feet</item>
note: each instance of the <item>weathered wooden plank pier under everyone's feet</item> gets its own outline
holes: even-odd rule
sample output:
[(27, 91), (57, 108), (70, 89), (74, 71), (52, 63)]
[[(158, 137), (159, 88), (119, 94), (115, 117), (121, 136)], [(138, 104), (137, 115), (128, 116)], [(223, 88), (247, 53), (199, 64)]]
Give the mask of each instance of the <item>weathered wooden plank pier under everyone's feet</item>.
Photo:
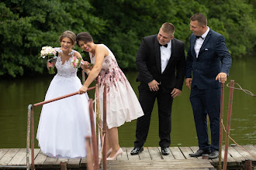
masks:
[[(245, 160), (251, 160), (256, 165), (256, 145), (242, 146), (250, 151), (244, 151), (238, 146), (230, 146), (227, 157), (228, 169), (240, 169), (244, 167)], [(170, 155), (161, 155), (159, 147), (144, 147), (140, 155), (130, 155), (133, 148), (123, 148), (122, 160), (108, 161), (107, 169), (111, 170), (141, 170), (141, 169), (215, 169), (219, 158), (208, 160), (192, 158), (189, 153), (198, 150), (198, 147), (170, 147)], [(222, 151), (224, 158), (224, 150)], [(31, 158), (30, 158), (31, 160)], [(67, 162), (67, 169), (86, 169), (86, 158), (50, 158), (35, 149), (35, 168), (36, 169), (57, 169), (61, 168), (61, 162)], [(223, 159), (222, 159), (223, 161)], [(31, 161), (30, 161), (31, 162)], [(16, 165), (26, 165), (26, 148), (0, 148), (0, 169), (15, 168)]]

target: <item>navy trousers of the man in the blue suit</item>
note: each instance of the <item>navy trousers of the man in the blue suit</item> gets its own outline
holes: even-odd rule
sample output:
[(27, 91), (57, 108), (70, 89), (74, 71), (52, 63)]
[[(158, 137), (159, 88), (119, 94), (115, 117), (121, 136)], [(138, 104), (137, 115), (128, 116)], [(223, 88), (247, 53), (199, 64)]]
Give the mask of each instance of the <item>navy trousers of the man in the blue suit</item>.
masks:
[[(196, 86), (192, 87), (190, 102), (194, 114), (199, 149), (218, 151), (220, 139), (220, 88), (200, 90)], [(209, 145), (207, 114), (210, 122), (211, 145)]]

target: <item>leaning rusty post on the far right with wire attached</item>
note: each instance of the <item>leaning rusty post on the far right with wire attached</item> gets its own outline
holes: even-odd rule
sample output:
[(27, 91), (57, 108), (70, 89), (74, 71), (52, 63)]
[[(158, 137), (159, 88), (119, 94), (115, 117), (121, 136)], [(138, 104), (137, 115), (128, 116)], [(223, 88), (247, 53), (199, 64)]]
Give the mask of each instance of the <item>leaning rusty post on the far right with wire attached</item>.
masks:
[(228, 105), (228, 113), (227, 113), (227, 132), (226, 132), (226, 139), (225, 139), (223, 170), (227, 170), (227, 151), (228, 151), (229, 136), (230, 136), (230, 121), (231, 121), (231, 114), (232, 114), (233, 93), (234, 93), (234, 80), (230, 80), (230, 97), (229, 97), (229, 105)]

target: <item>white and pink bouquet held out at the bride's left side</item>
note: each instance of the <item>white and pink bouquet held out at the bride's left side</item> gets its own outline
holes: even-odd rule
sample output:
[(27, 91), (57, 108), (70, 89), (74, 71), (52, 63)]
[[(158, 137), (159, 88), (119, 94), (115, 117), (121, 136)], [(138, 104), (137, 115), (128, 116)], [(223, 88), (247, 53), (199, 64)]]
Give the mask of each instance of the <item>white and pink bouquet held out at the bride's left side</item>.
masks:
[[(43, 46), (42, 50), (41, 50), (41, 55), (40, 55), (43, 59), (47, 59), (48, 62), (52, 63), (54, 61), (56, 61), (58, 53), (56, 51), (56, 49), (54, 49), (51, 46)], [(54, 74), (54, 67), (50, 67), (49, 68), (49, 73), (50, 74)]]

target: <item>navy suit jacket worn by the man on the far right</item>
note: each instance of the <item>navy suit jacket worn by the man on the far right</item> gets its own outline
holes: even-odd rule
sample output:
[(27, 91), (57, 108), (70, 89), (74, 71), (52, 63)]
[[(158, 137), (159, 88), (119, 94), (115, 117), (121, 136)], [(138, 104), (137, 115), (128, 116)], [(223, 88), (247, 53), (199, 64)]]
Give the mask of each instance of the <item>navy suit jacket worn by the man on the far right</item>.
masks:
[(219, 88), (221, 83), (216, 79), (218, 73), (229, 73), (232, 59), (228, 52), (224, 37), (209, 29), (206, 39), (195, 54), (195, 35), (190, 36), (190, 47), (186, 58), (185, 78), (192, 78), (192, 87), (199, 89)]

